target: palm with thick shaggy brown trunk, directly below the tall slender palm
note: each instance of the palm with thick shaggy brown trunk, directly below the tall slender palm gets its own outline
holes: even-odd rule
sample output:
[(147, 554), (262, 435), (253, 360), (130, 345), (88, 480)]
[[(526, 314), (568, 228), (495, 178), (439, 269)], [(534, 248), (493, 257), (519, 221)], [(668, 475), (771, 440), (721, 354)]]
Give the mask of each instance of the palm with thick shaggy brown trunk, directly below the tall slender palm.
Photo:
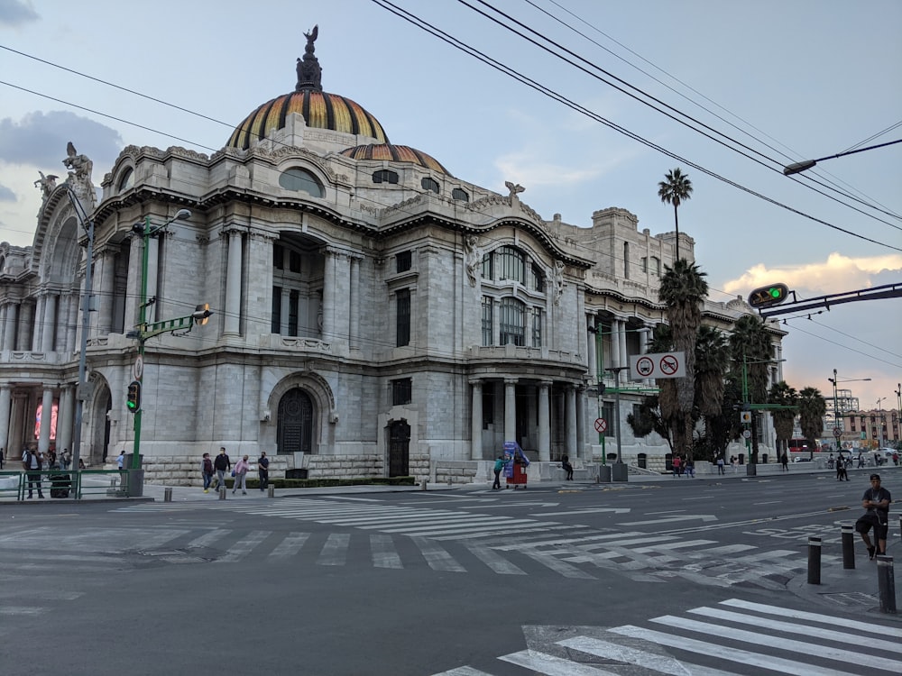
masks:
[[(667, 306), (667, 324), (674, 349), (684, 353), (686, 377), (676, 379), (676, 409), (683, 419), (683, 429), (674, 434), (677, 450), (692, 457), (692, 407), (695, 401), (695, 338), (702, 324), (702, 305), (708, 295), (706, 273), (686, 259), (665, 267), (658, 298)], [(662, 407), (665, 397), (661, 397)], [(675, 430), (675, 433), (677, 431)], [(682, 438), (680, 438), (682, 437)]]

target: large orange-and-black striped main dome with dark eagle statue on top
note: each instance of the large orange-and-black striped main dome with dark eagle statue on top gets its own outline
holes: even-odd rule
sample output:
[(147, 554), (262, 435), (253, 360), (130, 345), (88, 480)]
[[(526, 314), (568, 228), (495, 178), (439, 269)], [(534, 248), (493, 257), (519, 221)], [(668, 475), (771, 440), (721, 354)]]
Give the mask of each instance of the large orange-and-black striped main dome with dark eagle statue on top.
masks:
[(298, 84), (295, 90), (254, 109), (235, 127), (235, 132), (232, 132), (227, 143), (229, 148), (247, 150), (273, 131), (284, 129), (286, 117), (291, 113), (303, 115), (308, 127), (359, 134), (377, 142), (389, 142), (382, 124), (362, 105), (345, 96), (323, 91), (322, 69), (313, 54), (313, 42), (317, 39), (317, 34), (318, 27), (304, 33), (307, 47), (303, 59), (298, 59)]

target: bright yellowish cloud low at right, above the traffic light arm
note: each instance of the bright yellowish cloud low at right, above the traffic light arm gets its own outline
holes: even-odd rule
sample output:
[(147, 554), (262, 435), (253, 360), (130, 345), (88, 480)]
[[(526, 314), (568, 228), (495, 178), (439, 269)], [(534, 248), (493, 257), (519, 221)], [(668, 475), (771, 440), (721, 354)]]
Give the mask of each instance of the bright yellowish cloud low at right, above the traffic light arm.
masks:
[[(746, 270), (739, 279), (723, 283), (728, 293), (748, 292), (753, 288), (782, 282), (791, 289), (804, 289), (815, 296), (826, 296), (859, 288), (870, 288), (888, 282), (879, 280), (890, 271), (902, 270), (902, 254), (850, 258), (831, 253), (827, 260), (797, 266), (768, 268), (764, 263)], [(897, 274), (893, 277), (898, 277)]]

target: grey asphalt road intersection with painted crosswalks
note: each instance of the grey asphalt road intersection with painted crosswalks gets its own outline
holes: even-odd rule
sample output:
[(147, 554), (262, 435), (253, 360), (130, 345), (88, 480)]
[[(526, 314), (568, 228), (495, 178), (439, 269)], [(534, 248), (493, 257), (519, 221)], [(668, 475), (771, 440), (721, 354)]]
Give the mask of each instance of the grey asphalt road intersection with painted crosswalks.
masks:
[(0, 671), (897, 674), (872, 598), (790, 590), (864, 479), (5, 505)]

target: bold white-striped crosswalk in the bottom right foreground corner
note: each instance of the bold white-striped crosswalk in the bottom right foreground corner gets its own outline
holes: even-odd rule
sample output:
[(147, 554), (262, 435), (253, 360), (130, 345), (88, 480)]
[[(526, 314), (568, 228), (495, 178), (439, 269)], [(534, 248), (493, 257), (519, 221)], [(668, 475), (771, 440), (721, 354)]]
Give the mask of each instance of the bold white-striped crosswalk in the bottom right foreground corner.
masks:
[[(738, 598), (641, 625), (548, 629), (523, 627), (528, 648), (497, 660), (545, 676), (902, 673), (902, 626)], [(460, 666), (432, 676), (492, 672)]]

